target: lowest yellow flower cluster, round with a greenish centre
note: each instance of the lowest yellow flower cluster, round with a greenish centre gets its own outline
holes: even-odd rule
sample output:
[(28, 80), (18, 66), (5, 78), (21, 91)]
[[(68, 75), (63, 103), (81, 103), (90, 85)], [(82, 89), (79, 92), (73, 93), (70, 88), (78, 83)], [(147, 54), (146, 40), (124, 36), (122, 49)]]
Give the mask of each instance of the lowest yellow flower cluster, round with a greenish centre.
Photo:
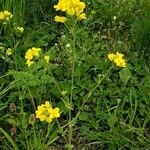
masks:
[(46, 101), (45, 104), (38, 106), (38, 110), (35, 112), (36, 118), (40, 121), (52, 122), (53, 119), (60, 117), (59, 108), (52, 108), (51, 104)]

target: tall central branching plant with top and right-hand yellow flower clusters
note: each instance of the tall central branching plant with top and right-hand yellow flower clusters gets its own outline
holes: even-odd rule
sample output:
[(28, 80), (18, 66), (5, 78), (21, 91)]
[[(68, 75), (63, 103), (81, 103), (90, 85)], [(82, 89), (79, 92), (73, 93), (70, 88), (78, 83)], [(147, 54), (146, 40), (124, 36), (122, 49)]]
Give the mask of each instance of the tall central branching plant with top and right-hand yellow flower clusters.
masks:
[[(78, 48), (78, 40), (80, 39), (79, 33), (80, 33), (80, 27), (78, 24), (78, 21), (87, 19), (85, 13), (83, 12), (85, 9), (85, 3), (80, 2), (80, 0), (60, 0), (57, 5), (54, 6), (56, 11), (62, 11), (66, 13), (66, 16), (56, 16), (55, 21), (56, 22), (61, 22), (65, 23), (66, 26), (66, 32), (64, 33), (64, 37), (62, 37), (61, 44), (63, 45), (63, 48), (65, 50), (65, 54), (68, 57), (68, 63), (70, 66), (70, 72), (69, 72), (69, 78), (70, 78), (70, 90), (67, 92), (63, 92), (64, 89), (61, 89), (61, 86), (59, 85), (59, 82), (55, 82), (56, 87), (58, 90), (60, 90), (62, 94), (62, 101), (64, 103), (64, 106), (68, 109), (68, 128), (67, 128), (67, 133), (66, 135), (68, 137), (66, 148), (68, 150), (73, 149), (73, 144), (72, 144), (72, 136), (73, 136), (73, 127), (77, 123), (77, 120), (79, 118), (79, 115), (85, 105), (85, 103), (91, 98), (92, 94), (95, 92), (95, 90), (98, 88), (100, 83), (110, 74), (112, 67), (110, 67), (103, 76), (99, 76), (97, 79), (96, 84), (92, 87), (91, 90), (89, 90), (88, 94), (84, 96), (82, 99), (82, 104), (77, 107), (78, 111), (75, 114), (75, 116), (72, 116), (72, 112), (74, 111), (75, 107), (75, 101), (74, 101), (74, 96), (75, 96), (75, 80), (76, 80), (76, 70), (78, 69), (78, 63), (79, 61), (82, 61), (81, 59), (81, 51), (82, 49), (79, 50)], [(71, 21), (69, 21), (71, 19)], [(63, 43), (63, 40), (66, 38), (67, 43)], [(64, 40), (65, 42), (65, 40)], [(69, 43), (69, 47), (65, 46)], [(80, 45), (82, 47), (82, 44)], [(111, 59), (111, 61), (114, 61), (117, 66), (119, 67), (126, 67), (126, 62), (123, 59), (123, 54), (116, 53), (115, 54), (108, 54), (108, 58)], [(83, 64), (82, 64), (83, 65)], [(76, 87), (78, 88), (78, 87)]]

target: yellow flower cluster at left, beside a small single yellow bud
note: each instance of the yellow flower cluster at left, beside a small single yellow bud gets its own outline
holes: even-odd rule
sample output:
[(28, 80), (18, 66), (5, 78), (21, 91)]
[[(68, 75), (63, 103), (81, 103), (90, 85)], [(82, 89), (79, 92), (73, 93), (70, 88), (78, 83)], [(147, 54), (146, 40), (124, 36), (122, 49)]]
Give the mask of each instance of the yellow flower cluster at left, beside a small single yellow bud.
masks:
[(32, 47), (27, 50), (25, 53), (25, 59), (27, 60), (26, 64), (28, 67), (30, 67), (34, 63), (34, 58), (39, 57), (39, 53), (41, 51), (41, 48)]

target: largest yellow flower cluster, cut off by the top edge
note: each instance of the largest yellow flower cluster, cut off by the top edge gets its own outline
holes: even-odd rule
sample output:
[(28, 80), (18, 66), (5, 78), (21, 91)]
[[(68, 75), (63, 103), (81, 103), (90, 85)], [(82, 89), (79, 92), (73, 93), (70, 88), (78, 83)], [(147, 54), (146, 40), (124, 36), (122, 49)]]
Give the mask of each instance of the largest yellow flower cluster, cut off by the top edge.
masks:
[[(80, 0), (59, 0), (57, 5), (54, 5), (56, 11), (60, 10), (66, 12), (67, 15), (76, 16), (78, 20), (86, 19), (85, 13), (83, 13), (85, 8), (85, 3), (80, 2)], [(66, 17), (56, 16), (55, 21), (64, 23), (67, 20)]]

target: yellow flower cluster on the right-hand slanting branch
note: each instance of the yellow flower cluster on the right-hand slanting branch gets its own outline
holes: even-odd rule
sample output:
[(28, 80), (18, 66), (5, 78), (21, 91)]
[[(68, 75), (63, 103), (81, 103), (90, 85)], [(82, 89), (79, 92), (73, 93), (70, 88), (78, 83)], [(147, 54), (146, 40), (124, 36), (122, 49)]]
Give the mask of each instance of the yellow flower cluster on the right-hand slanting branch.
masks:
[(114, 63), (118, 66), (118, 67), (126, 67), (126, 62), (125, 59), (123, 59), (123, 54), (117, 52), (116, 54), (108, 54), (108, 58), (111, 61), (114, 61)]

